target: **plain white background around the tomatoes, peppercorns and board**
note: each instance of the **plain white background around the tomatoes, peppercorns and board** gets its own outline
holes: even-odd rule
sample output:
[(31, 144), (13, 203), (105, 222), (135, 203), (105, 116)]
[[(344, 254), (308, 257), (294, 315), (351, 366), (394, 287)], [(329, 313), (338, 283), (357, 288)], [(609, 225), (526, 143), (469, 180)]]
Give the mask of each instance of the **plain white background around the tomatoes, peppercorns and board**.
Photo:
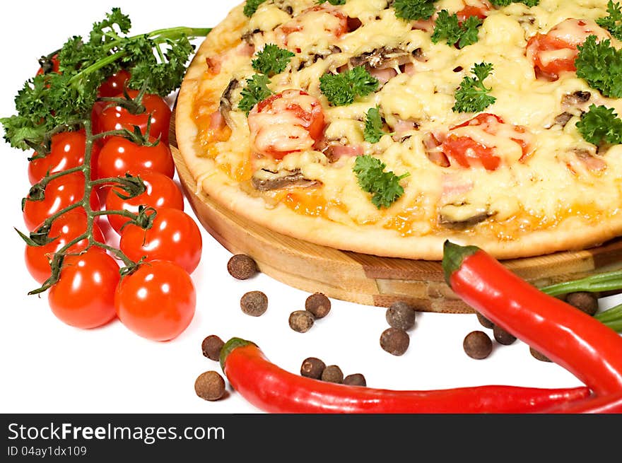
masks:
[[(59, 48), (71, 35), (88, 35), (90, 24), (112, 6), (133, 20), (132, 33), (187, 25), (210, 27), (237, 0), (11, 1), (2, 6), (0, 38), (0, 116), (13, 114), (13, 95), (37, 71), (37, 58)], [(336, 364), (344, 374), (363, 373), (371, 387), (441, 389), (469, 385), (572, 387), (578, 380), (552, 363), (532, 358), (521, 341), (495, 343), (492, 355), (473, 360), (462, 350), (464, 336), (483, 329), (475, 315), (423, 313), (411, 331), (409, 350), (389, 355), (379, 345), (387, 328), (385, 310), (333, 300), (330, 314), (305, 334), (288, 327), (288, 315), (304, 308), (307, 293), (265, 275), (247, 281), (226, 270), (230, 253), (204, 230), (204, 250), (193, 274), (196, 316), (174, 341), (147, 341), (118, 321), (81, 331), (59, 322), (47, 295), (28, 296), (36, 288), (23, 262), (20, 199), (28, 193), (28, 153), (0, 141), (4, 175), (0, 181), (2, 285), (0, 303), (0, 411), (4, 413), (257, 413), (230, 387), (229, 396), (206, 402), (194, 394), (196, 376), (220, 368), (201, 354), (209, 334), (223, 340), (240, 336), (255, 341), (266, 355), (293, 373), (308, 356)], [(186, 211), (192, 214), (187, 205)], [(240, 310), (247, 291), (264, 291), (269, 309), (262, 317)], [(602, 300), (602, 307), (613, 301)], [(485, 330), (492, 335), (490, 330)]]

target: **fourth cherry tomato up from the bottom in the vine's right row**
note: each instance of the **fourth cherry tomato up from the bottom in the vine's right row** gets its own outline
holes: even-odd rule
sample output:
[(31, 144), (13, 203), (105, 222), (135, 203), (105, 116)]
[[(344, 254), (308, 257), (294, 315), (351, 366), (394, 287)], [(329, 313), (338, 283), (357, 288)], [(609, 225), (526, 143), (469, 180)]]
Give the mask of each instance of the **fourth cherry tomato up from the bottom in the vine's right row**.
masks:
[[(155, 138), (150, 136), (149, 141), (155, 142)], [(124, 177), (126, 172), (131, 175), (160, 172), (172, 178), (175, 163), (168, 143), (140, 146), (122, 136), (111, 136), (98, 156), (97, 172), (98, 178)]]

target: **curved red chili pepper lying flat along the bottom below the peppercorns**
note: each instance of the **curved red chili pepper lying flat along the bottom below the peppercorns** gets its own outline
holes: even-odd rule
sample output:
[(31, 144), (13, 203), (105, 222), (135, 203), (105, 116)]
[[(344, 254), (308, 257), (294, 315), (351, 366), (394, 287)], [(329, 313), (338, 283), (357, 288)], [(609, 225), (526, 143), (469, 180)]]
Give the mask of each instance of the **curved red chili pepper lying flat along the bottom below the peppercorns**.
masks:
[(221, 366), (230, 384), (248, 402), (279, 414), (537, 413), (589, 395), (587, 387), (480, 386), (394, 391), (340, 385), (288, 373), (271, 363), (255, 344), (239, 338), (223, 346)]

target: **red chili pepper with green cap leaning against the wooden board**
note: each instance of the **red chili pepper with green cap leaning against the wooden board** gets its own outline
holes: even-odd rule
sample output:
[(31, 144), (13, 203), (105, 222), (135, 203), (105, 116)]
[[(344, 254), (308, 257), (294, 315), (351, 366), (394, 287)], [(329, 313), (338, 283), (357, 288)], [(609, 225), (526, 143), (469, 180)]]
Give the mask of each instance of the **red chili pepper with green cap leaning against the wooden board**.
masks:
[(479, 247), (445, 242), (454, 293), (563, 366), (599, 396), (622, 392), (622, 338), (593, 317), (539, 291)]

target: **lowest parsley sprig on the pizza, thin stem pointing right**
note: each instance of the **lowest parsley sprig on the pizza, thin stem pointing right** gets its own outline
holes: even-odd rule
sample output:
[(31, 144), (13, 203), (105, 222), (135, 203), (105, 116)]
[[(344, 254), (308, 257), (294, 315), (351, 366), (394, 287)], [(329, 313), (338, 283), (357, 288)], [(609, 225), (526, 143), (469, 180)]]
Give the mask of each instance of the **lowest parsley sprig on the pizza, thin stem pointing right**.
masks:
[(385, 172), (386, 167), (380, 159), (368, 155), (357, 156), (354, 161), (358, 184), (364, 192), (372, 194), (372, 204), (378, 209), (391, 206), (404, 194), (399, 181), (410, 175), (406, 172), (398, 177), (391, 171)]

